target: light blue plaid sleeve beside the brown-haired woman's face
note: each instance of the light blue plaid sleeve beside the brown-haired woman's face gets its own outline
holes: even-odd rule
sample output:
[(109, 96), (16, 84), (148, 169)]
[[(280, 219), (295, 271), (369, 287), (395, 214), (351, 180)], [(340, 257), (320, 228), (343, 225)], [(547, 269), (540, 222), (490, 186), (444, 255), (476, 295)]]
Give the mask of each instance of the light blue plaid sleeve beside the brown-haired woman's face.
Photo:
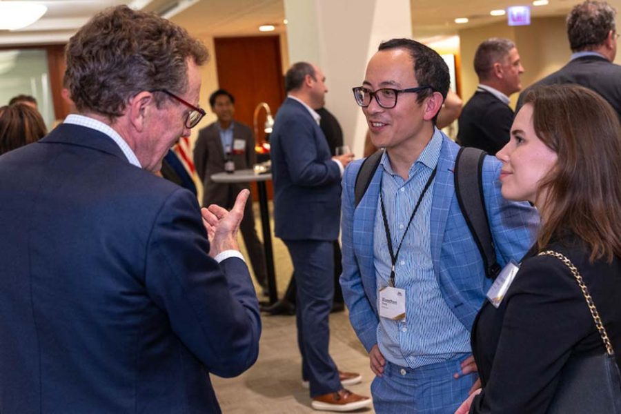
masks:
[(533, 245), (539, 228), (539, 213), (526, 201), (509, 201), (500, 193), (502, 164), (486, 157), (483, 164), (483, 195), (500, 266), (510, 259), (520, 262)]

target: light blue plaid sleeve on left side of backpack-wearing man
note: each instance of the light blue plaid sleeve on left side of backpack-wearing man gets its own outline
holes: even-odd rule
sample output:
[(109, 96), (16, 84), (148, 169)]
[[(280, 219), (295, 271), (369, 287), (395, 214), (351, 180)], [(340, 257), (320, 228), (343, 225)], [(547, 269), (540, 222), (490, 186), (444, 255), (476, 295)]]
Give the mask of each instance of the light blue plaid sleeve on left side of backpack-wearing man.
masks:
[(347, 166), (343, 175), (342, 190), (342, 255), (343, 255), (343, 273), (340, 278), (341, 287), (343, 289), (343, 297), (349, 310), (349, 320), (353, 326), (356, 335), (362, 342), (366, 351), (377, 344), (377, 315), (373, 311), (373, 307), (368, 302), (368, 297), (364, 292), (362, 284), (362, 275), (354, 253), (353, 243), (353, 219), (354, 219), (354, 199), (353, 186), (355, 183), (357, 171)]

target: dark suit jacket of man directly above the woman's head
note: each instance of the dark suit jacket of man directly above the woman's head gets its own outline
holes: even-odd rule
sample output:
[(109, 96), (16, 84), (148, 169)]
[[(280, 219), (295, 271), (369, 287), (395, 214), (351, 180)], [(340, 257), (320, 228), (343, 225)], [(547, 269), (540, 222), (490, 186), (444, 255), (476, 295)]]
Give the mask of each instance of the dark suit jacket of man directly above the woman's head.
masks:
[(516, 111), (522, 108), (522, 101), (531, 88), (556, 83), (578, 83), (578, 85), (598, 92), (621, 117), (621, 66), (599, 56), (573, 59), (553, 74), (533, 83), (520, 93)]

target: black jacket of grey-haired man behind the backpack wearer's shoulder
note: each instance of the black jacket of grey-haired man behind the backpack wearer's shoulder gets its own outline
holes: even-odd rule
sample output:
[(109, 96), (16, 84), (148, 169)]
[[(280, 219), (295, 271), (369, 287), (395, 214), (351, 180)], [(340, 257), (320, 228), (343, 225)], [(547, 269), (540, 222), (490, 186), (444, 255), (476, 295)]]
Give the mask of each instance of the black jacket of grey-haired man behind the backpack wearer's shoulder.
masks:
[(477, 90), (460, 115), (457, 142), (495, 155), (509, 142), (513, 110), (486, 90)]

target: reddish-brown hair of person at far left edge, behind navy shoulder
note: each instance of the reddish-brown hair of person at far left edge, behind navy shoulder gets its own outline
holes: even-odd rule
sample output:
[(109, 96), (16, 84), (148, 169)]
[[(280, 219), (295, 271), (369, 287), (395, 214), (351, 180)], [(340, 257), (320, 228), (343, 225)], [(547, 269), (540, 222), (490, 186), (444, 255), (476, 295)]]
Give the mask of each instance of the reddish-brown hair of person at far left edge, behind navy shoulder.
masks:
[(47, 133), (39, 111), (25, 103), (0, 110), (0, 154), (39, 141)]

